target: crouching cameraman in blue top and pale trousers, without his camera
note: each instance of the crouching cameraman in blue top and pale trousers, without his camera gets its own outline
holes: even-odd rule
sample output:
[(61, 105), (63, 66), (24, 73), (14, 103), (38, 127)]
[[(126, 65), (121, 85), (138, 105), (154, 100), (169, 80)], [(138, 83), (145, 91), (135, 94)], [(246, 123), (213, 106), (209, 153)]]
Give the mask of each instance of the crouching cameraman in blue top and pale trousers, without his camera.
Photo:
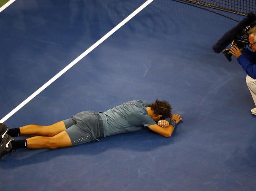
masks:
[[(237, 58), (237, 61), (247, 73), (246, 83), (256, 105), (256, 32), (250, 33), (249, 42), (252, 51), (247, 48), (240, 51), (237, 46), (233, 46), (230, 53)], [(256, 115), (256, 107), (251, 109), (251, 113)]]

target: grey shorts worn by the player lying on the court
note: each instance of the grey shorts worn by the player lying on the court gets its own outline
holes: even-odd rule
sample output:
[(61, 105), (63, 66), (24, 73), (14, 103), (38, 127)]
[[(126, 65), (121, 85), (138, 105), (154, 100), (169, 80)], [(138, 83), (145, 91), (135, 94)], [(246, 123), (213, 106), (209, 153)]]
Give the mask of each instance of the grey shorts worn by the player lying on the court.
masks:
[(102, 118), (97, 112), (83, 111), (70, 119), (63, 120), (63, 122), (72, 146), (99, 141), (100, 137), (104, 136)]

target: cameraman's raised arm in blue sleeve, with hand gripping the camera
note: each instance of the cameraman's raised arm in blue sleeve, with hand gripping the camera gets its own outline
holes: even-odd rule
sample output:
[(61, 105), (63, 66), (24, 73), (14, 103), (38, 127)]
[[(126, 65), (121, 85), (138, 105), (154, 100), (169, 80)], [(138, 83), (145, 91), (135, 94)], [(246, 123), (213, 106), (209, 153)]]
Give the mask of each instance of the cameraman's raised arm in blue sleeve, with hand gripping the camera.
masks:
[(247, 75), (256, 79), (256, 64), (253, 60), (252, 52), (247, 48), (243, 49), (241, 52), (236, 46), (234, 46), (230, 49), (230, 53), (237, 58), (237, 61), (242, 66)]

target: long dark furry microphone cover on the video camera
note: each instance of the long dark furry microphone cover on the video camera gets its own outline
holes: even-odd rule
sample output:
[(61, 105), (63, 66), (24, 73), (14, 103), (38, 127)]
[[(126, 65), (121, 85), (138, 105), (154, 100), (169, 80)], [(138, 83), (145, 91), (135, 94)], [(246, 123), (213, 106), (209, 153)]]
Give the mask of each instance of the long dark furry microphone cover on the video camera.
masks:
[(215, 53), (220, 53), (223, 49), (225, 49), (231, 42), (238, 36), (245, 27), (248, 25), (254, 24), (256, 21), (256, 15), (251, 12), (247, 15), (246, 18), (241, 20), (239, 24), (237, 24), (234, 28), (230, 29), (226, 32), (220, 40), (216, 44), (213, 45), (213, 51)]

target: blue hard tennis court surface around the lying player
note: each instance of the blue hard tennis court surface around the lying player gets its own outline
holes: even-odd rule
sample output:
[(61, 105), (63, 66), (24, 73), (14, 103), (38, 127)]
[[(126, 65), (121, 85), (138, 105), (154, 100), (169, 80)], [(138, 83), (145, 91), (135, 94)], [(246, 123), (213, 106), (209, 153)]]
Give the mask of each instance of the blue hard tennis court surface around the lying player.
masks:
[[(2, 11), (0, 119), (145, 2), (16, 0)], [(158, 98), (182, 116), (173, 135), (145, 128), (74, 147), (17, 149), (0, 160), (0, 190), (256, 190), (246, 73), (212, 50), (234, 25), (205, 9), (154, 0), (4, 123), (50, 125)]]

